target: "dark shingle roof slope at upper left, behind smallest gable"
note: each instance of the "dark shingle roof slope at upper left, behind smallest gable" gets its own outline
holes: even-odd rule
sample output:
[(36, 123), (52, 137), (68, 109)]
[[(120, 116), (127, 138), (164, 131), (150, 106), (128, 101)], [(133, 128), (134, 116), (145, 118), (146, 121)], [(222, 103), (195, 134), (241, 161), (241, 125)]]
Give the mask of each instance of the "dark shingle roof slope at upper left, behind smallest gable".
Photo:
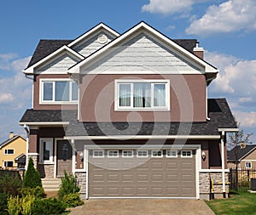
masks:
[(55, 52), (58, 48), (69, 44), (73, 40), (40, 40), (32, 59), (30, 60), (27, 68), (36, 64), (39, 60), (44, 59), (49, 54)]

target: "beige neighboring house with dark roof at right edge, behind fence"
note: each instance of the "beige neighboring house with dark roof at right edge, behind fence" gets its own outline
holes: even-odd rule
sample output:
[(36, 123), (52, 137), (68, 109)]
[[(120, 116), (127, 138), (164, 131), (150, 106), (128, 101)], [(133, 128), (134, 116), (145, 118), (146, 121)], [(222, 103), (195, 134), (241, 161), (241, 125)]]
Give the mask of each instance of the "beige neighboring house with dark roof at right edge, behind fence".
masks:
[(240, 145), (228, 151), (228, 167), (236, 169), (256, 169), (256, 144)]

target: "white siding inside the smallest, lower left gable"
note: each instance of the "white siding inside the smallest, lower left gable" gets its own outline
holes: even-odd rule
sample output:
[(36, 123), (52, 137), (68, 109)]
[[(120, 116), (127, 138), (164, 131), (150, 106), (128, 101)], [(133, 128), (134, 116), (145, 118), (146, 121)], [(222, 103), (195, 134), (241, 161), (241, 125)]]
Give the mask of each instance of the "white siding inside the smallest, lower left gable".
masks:
[(41, 73), (63, 73), (74, 64), (78, 63), (79, 60), (71, 57), (68, 54), (62, 54), (51, 62), (40, 66), (36, 71)]

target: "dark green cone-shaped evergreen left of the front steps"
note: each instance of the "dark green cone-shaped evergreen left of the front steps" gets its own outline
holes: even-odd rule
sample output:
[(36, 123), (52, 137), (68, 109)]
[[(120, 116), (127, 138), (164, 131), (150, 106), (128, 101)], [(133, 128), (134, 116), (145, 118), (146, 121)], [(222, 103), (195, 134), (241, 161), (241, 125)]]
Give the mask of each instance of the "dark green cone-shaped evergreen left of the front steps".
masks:
[(23, 187), (36, 188), (42, 187), (42, 181), (38, 170), (35, 169), (32, 158), (29, 158), (25, 177), (23, 179)]

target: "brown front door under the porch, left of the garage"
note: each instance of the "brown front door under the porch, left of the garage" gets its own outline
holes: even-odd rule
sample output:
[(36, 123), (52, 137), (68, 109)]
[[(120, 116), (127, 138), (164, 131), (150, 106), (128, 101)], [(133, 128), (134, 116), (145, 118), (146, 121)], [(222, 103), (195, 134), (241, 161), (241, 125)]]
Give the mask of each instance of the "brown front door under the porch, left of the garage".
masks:
[(72, 173), (72, 147), (67, 140), (57, 141), (57, 177), (62, 177), (64, 171)]

